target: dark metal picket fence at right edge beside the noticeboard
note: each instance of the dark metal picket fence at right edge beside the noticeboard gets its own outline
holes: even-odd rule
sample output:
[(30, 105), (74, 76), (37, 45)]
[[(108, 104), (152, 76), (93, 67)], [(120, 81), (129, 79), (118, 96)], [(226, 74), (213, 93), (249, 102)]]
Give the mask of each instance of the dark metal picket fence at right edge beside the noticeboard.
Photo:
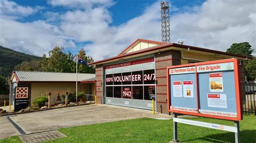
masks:
[(254, 81), (245, 83), (245, 98), (243, 98), (243, 111), (245, 115), (256, 115), (256, 84)]

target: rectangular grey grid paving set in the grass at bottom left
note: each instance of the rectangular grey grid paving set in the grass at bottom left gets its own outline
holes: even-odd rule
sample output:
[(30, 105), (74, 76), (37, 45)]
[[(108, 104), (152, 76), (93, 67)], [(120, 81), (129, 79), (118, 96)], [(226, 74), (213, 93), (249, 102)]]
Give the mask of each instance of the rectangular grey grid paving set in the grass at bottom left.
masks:
[(66, 136), (60, 133), (59, 131), (49, 131), (49, 132), (21, 135), (19, 138), (21, 138), (23, 143), (30, 143), (30, 142), (43, 142), (47, 140), (55, 140), (55, 139), (64, 138), (64, 137)]

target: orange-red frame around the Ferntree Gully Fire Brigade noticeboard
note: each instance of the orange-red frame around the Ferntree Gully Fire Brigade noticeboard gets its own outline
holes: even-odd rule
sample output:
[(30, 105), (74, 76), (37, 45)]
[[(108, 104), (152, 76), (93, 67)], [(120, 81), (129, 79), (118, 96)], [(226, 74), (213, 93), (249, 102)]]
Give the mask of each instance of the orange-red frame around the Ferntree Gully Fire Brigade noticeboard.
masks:
[[(227, 117), (227, 116), (218, 116), (218, 115), (208, 115), (199, 112), (199, 87), (198, 87), (198, 66), (205, 66), (205, 65), (212, 65), (212, 64), (220, 64), (220, 63), (228, 63), (233, 62), (234, 68), (234, 87), (235, 87), (235, 103), (237, 109), (237, 117)], [(196, 75), (196, 95), (197, 98), (197, 112), (187, 112), (187, 111), (180, 111), (171, 109), (171, 89), (170, 89), (170, 69), (175, 68), (188, 68), (188, 67), (195, 67), (195, 75)], [(220, 70), (221, 71), (221, 70)], [(186, 73), (186, 71), (185, 71)], [(239, 69), (239, 60), (238, 59), (225, 59), (225, 60), (217, 60), (217, 61), (207, 61), (207, 62), (199, 62), (199, 63), (191, 63), (186, 65), (178, 65), (178, 66), (169, 66), (166, 67), (166, 77), (167, 77), (167, 110), (173, 113), (180, 113), (184, 115), (192, 115), (198, 117), (207, 117), (207, 118), (216, 118), (216, 119), (224, 119), (224, 120), (232, 120), (232, 121), (239, 121), (242, 120), (242, 103), (241, 103), (241, 85), (240, 85), (240, 69)]]

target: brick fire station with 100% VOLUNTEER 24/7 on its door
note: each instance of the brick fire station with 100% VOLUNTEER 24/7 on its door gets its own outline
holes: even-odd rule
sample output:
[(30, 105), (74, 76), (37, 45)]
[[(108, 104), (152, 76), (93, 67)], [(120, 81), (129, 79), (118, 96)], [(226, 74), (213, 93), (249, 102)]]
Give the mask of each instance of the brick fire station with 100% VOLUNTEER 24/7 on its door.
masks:
[[(168, 113), (167, 66), (230, 58), (243, 61), (250, 57), (182, 43), (137, 39), (117, 56), (89, 65), (96, 66), (97, 103), (152, 110), (154, 99), (156, 111)], [(245, 81), (243, 62), (240, 67), (241, 81)]]

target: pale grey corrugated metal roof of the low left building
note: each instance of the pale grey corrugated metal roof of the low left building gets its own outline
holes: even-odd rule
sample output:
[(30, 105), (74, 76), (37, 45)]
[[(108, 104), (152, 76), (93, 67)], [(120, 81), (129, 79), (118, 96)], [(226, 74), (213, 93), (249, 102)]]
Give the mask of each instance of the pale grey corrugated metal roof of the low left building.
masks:
[[(15, 71), (19, 81), (75, 82), (76, 73), (53, 73), (42, 71)], [(95, 74), (77, 74), (77, 81), (95, 78)]]

